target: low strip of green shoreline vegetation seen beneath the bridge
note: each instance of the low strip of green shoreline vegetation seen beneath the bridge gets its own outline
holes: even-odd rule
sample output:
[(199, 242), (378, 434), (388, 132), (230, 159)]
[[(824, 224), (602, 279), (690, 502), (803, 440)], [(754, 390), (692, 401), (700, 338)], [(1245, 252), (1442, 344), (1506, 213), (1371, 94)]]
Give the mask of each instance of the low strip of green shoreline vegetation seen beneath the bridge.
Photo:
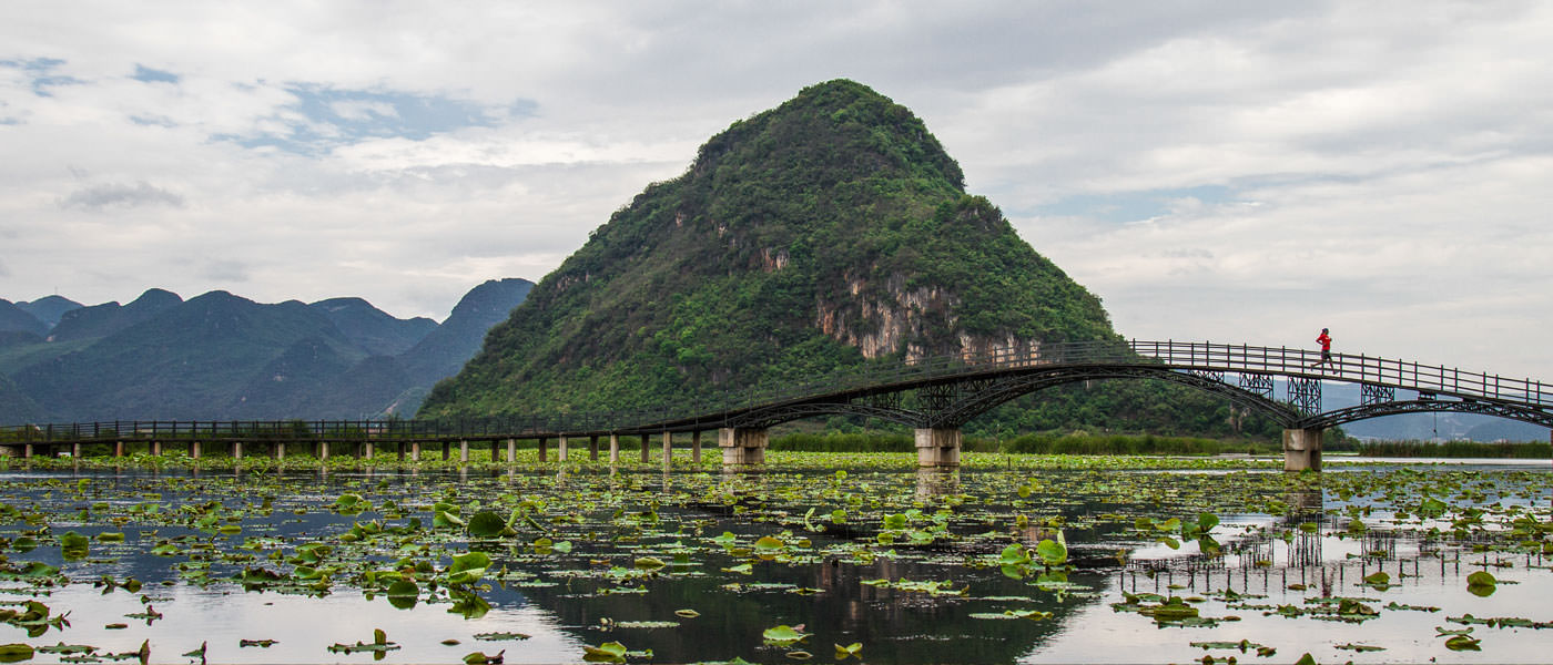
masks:
[[(773, 436), (767, 448), (767, 470), (815, 470), (845, 465), (877, 468), (910, 468), (916, 456), (912, 434), (898, 431), (868, 432), (789, 432)], [(626, 471), (662, 470), (662, 439), (652, 437), (648, 460), (641, 460), (638, 437), (620, 439), (620, 460), (609, 462), (609, 451), (599, 450), (598, 459), (590, 459), (587, 443), (576, 442), (567, 462), (559, 460), (559, 450), (551, 442), (545, 460), (539, 459), (537, 442), (520, 440), (512, 462), (506, 460), (505, 448), (492, 451), (489, 445), (471, 445), (467, 462), (461, 460), (458, 446), (424, 445), (421, 459), (412, 460), (396, 450), (379, 446), (371, 457), (362, 456), (357, 445), (332, 443), (326, 459), (317, 457), (317, 445), (292, 442), (284, 456), (275, 457), (270, 445), (248, 446), (242, 457), (231, 457), (225, 445), (203, 448), (200, 457), (189, 456), (183, 442), (165, 442), (162, 454), (151, 454), (149, 443), (126, 446), (123, 457), (113, 457), (112, 446), (104, 443), (84, 445), (81, 457), (70, 456), (19, 456), (0, 457), (0, 470), (16, 468), (200, 468), (200, 470), (607, 470), (617, 467)], [(1409, 459), (1550, 459), (1553, 450), (1545, 442), (1357, 442), (1345, 439), (1328, 443), (1329, 462), (1364, 460), (1367, 457)], [(1042, 432), (1017, 437), (977, 437), (963, 440), (963, 468), (1030, 468), (1030, 470), (1155, 470), (1155, 468), (1281, 468), (1281, 448), (1277, 442), (1218, 440), (1200, 437), (1151, 436), (1151, 434), (1089, 434), (1089, 432)], [(716, 440), (704, 440), (700, 462), (691, 460), (686, 440), (677, 440), (671, 468), (676, 471), (719, 471), (722, 454)]]

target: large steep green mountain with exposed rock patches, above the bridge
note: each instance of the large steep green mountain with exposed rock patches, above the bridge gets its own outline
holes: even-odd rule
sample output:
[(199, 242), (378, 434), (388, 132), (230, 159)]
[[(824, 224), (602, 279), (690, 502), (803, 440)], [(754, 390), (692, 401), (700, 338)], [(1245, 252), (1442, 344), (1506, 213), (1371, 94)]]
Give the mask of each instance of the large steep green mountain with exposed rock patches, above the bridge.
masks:
[(907, 109), (831, 81), (738, 121), (547, 276), (422, 415), (610, 411), (870, 361), (1112, 338)]

